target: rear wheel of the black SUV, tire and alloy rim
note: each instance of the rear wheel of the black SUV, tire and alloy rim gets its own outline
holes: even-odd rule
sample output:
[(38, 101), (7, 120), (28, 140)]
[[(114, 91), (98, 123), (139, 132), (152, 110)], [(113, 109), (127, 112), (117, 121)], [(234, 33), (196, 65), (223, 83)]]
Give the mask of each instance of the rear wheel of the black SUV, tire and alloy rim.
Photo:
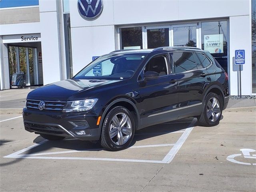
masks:
[(216, 93), (211, 92), (206, 96), (202, 104), (202, 114), (198, 117), (201, 126), (211, 127), (219, 124), (222, 115), (221, 101)]

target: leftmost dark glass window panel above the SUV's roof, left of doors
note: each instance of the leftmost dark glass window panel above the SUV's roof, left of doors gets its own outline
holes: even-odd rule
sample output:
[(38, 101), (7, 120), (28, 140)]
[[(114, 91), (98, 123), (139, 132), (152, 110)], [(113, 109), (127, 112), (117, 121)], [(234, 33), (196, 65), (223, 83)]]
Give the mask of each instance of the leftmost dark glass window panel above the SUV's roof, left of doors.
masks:
[(142, 27), (121, 28), (122, 49), (142, 49)]

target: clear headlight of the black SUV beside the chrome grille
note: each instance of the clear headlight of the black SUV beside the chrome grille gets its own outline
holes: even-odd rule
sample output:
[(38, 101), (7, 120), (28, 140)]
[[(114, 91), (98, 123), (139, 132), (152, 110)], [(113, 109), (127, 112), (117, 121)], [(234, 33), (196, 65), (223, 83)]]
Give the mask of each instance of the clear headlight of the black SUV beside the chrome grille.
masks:
[(86, 99), (78, 101), (68, 101), (64, 107), (64, 112), (88, 111), (93, 108), (98, 99)]

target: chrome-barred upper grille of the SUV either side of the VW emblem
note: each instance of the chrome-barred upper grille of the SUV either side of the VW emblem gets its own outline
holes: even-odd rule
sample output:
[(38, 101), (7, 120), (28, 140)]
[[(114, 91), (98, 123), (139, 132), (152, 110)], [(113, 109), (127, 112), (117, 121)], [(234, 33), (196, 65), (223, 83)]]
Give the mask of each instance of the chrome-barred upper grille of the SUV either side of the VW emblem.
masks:
[[(38, 104), (41, 100), (27, 99), (26, 107), (32, 110), (39, 110)], [(43, 111), (62, 111), (65, 105), (65, 101), (44, 101), (45, 107)]]

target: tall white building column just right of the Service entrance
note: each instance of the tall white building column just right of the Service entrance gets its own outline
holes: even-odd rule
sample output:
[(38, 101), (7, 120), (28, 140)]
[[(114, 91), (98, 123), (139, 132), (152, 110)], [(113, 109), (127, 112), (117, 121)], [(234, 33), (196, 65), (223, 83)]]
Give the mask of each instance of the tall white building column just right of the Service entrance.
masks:
[(63, 78), (56, 0), (39, 0), (44, 85)]

